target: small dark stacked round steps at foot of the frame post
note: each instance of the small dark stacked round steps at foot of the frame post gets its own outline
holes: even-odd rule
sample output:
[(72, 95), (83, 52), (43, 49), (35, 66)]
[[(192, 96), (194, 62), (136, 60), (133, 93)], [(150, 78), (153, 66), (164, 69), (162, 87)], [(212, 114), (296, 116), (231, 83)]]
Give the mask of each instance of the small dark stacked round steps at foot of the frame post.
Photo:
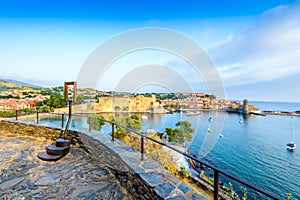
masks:
[(70, 140), (58, 138), (55, 144), (46, 147), (46, 152), (40, 152), (37, 156), (44, 161), (57, 161), (69, 153), (70, 144)]

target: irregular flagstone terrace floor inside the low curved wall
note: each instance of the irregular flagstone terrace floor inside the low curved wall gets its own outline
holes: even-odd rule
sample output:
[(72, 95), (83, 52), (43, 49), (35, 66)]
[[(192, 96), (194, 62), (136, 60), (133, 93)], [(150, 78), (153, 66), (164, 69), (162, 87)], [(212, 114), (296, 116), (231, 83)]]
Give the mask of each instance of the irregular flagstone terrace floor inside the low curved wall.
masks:
[(37, 158), (51, 141), (0, 133), (0, 200), (130, 199), (113, 174), (83, 149), (57, 162)]

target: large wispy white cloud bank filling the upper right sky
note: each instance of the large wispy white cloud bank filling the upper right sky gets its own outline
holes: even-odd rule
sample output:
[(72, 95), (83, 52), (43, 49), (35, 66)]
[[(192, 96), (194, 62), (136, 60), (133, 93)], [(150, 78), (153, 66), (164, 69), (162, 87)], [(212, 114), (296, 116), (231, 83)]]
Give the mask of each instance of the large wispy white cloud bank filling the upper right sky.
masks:
[(300, 74), (300, 2), (266, 11), (210, 54), (227, 86)]

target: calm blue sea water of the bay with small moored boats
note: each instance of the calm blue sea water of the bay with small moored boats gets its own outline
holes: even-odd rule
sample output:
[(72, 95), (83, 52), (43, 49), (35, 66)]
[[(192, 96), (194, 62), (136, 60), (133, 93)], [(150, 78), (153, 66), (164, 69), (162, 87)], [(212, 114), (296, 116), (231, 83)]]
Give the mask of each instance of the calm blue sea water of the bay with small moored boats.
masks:
[[(259, 110), (297, 111), (300, 103), (249, 102)], [(164, 132), (180, 120), (189, 121), (195, 132), (185, 146), (198, 158), (281, 198), (287, 193), (300, 199), (300, 117), (241, 115), (220, 111), (202, 111), (191, 116), (187, 112), (141, 115), (142, 131)], [(210, 122), (208, 119), (211, 118)], [(60, 119), (46, 118), (40, 123), (57, 123)], [(87, 128), (86, 118), (74, 117), (74, 128)], [(208, 129), (212, 130), (208, 132)], [(109, 125), (102, 132), (110, 133)], [(286, 144), (294, 141), (298, 149), (287, 151)], [(208, 172), (208, 176), (213, 172)], [(244, 195), (242, 185), (233, 183), (234, 190)], [(247, 190), (247, 199), (268, 199)]]

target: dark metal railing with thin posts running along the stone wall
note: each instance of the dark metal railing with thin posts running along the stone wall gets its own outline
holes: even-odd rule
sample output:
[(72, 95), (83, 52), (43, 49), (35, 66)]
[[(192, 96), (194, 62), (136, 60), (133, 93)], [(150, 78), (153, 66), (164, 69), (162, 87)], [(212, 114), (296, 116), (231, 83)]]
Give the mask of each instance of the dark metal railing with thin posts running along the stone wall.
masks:
[[(64, 120), (65, 120), (65, 113), (49, 113), (49, 114), (54, 114), (54, 115), (61, 115), (61, 127), (64, 128)], [(91, 116), (87, 116), (87, 114), (72, 114), (73, 116), (80, 116), (80, 117), (91, 117)], [(204, 165), (210, 169), (212, 169), (214, 171), (214, 200), (218, 200), (219, 199), (219, 177), (220, 177), (220, 174), (224, 175), (225, 177), (228, 177), (234, 181), (237, 181), (238, 183), (240, 184), (243, 184), (249, 188), (251, 188), (252, 190), (260, 193), (260, 194), (263, 194), (265, 195), (266, 197), (269, 197), (271, 199), (282, 199), (280, 197), (278, 197), (277, 195), (271, 193), (271, 192), (268, 192), (268, 191), (265, 191), (263, 189), (260, 189), (258, 188), (257, 186), (253, 185), (253, 184), (250, 184), (244, 180), (241, 180), (240, 178), (234, 176), (234, 175), (231, 175), (230, 173), (227, 173), (223, 170), (221, 170), (220, 168), (216, 167), (216, 166), (213, 166), (207, 162), (204, 162), (190, 154), (187, 154), (171, 145), (168, 145), (162, 141), (159, 141), (159, 140), (156, 140), (154, 138), (151, 138), (147, 135), (145, 135), (144, 133), (142, 132), (139, 132), (139, 131), (136, 131), (136, 130), (133, 130), (131, 128), (128, 128), (122, 124), (118, 124), (116, 122), (113, 122), (113, 121), (108, 121), (108, 120), (105, 120), (105, 119), (101, 119), (101, 118), (97, 118), (99, 120), (102, 120), (103, 122), (105, 123), (109, 123), (111, 124), (111, 141), (114, 141), (115, 140), (115, 127), (121, 127), (121, 128), (124, 128), (126, 130), (128, 130), (129, 132), (132, 132), (132, 133), (135, 133), (137, 135), (140, 136), (140, 141), (141, 141), (141, 150), (140, 150), (140, 153), (141, 153), (141, 160), (144, 160), (144, 154), (145, 154), (145, 145), (144, 145), (144, 142), (145, 142), (145, 139), (148, 139), (148, 140), (151, 140), (159, 145), (162, 145), (162, 146), (165, 146), (169, 149), (172, 149), (173, 151), (177, 152), (177, 153), (180, 153), (181, 155), (197, 162), (197, 163), (200, 163), (201, 165)], [(16, 120), (18, 120), (18, 111), (16, 111)], [(39, 123), (39, 112), (36, 112), (36, 123)], [(88, 127), (88, 130), (89, 131), (92, 131), (92, 127), (91, 127), (91, 123), (89, 123), (89, 127)]]

